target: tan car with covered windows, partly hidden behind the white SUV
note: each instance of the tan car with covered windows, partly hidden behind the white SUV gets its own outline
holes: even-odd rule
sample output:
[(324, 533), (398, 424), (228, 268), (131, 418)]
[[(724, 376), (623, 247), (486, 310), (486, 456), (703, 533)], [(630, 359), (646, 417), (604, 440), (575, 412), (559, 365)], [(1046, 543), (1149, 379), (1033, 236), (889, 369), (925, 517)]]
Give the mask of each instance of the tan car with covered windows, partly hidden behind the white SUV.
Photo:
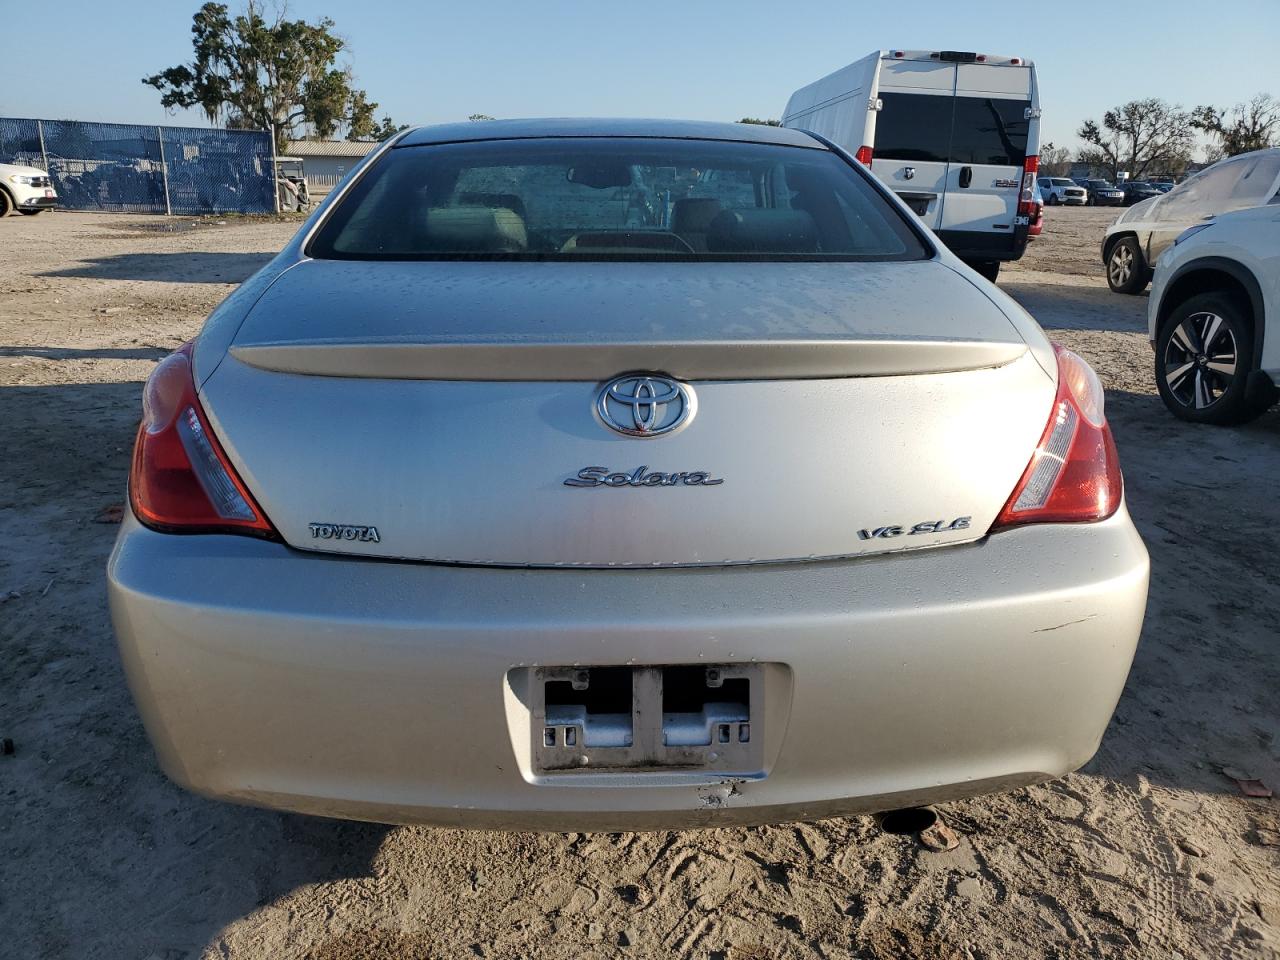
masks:
[(1116, 293), (1140, 293), (1151, 268), (1188, 227), (1206, 218), (1261, 206), (1280, 191), (1280, 147), (1220, 160), (1188, 177), (1169, 193), (1130, 207), (1102, 237), (1107, 284)]

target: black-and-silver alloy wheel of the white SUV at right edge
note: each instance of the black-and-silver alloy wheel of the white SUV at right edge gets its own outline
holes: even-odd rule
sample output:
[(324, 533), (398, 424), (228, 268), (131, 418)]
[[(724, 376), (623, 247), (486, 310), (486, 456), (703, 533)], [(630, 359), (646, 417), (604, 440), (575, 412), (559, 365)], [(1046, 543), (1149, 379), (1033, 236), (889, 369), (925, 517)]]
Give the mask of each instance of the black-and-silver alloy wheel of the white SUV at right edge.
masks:
[(1169, 411), (1194, 424), (1244, 424), (1275, 390), (1251, 390), (1253, 325), (1225, 293), (1181, 303), (1156, 338), (1156, 387)]

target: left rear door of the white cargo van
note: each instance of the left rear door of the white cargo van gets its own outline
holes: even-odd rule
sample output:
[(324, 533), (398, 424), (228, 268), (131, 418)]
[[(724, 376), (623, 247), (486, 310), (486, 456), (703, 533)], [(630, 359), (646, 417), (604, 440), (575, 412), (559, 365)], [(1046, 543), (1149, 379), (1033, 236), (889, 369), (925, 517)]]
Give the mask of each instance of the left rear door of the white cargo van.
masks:
[(948, 179), (956, 65), (941, 60), (881, 61), (881, 100), (872, 172), (938, 229)]

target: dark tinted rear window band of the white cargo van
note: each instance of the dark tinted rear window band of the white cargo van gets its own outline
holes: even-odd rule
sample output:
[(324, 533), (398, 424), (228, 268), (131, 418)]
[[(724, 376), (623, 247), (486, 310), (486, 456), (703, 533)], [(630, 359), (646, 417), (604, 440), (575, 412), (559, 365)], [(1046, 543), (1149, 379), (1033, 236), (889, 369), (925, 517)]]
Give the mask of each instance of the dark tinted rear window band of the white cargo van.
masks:
[(886, 160), (1021, 166), (1029, 100), (881, 93), (876, 156)]

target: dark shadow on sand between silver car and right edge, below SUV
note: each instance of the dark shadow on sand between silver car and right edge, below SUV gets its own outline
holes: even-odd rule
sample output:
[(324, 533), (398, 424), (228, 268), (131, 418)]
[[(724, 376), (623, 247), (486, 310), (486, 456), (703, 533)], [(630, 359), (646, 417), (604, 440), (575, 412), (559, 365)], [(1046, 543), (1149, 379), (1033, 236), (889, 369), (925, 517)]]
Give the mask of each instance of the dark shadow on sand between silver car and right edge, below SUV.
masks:
[[(1158, 396), (1107, 390), (1125, 502), (1151, 556), (1142, 641), (1098, 758), (1153, 783), (1236, 792), (1222, 767), (1280, 785), (1275, 530), (1280, 407), (1238, 428), (1188, 424)], [(1274, 622), (1274, 621), (1271, 621)], [(1137, 767), (1135, 767), (1137, 764)]]

